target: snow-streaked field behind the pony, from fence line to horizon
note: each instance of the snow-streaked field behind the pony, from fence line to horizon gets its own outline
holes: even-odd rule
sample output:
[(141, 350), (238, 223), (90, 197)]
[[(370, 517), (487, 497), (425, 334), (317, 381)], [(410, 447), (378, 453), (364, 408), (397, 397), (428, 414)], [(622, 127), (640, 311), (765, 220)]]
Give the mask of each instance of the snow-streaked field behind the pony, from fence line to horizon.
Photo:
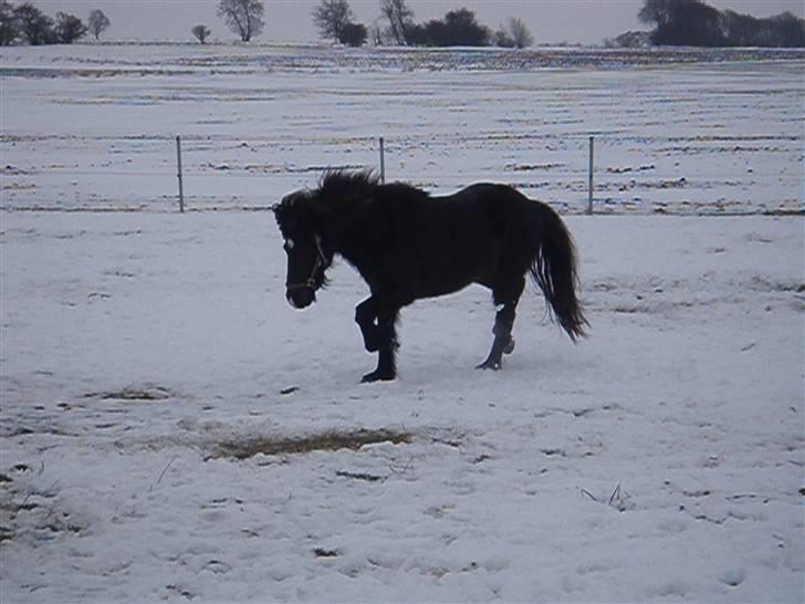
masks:
[(265, 207), (322, 166), (377, 167), (384, 136), (389, 178), (577, 211), (595, 135), (602, 211), (803, 209), (805, 52), (87, 45), (0, 65), (7, 208), (174, 208), (176, 135), (189, 207)]

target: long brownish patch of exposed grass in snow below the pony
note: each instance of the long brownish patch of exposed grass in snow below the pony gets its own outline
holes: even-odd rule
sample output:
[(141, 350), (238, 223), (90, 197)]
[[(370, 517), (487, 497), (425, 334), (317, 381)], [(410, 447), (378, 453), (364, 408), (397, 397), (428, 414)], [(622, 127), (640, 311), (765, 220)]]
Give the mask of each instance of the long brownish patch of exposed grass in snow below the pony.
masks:
[(407, 431), (393, 429), (357, 429), (347, 431), (326, 431), (301, 437), (278, 438), (259, 437), (245, 440), (220, 442), (212, 457), (233, 457), (249, 459), (255, 455), (295, 455), (312, 451), (336, 451), (338, 449), (358, 450), (365, 445), (376, 442), (410, 442), (414, 436)]

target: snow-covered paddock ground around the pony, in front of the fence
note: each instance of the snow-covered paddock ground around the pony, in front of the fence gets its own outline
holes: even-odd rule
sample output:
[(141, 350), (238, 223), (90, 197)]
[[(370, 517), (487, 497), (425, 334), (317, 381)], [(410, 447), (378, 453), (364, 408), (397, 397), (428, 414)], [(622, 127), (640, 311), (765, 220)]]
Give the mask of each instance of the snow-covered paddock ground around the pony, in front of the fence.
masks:
[[(474, 371), (471, 288), (381, 385), (269, 214), (2, 222), (3, 602), (802, 600), (799, 217), (569, 217), (588, 340), (532, 291)], [(238, 459), (360, 429), (400, 441)]]

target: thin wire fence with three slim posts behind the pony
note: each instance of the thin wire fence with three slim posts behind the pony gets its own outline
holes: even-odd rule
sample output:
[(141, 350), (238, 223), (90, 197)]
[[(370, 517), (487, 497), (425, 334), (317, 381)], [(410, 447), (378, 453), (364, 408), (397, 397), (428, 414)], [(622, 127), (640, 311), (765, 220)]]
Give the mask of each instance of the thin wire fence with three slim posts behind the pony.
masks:
[[(97, 147), (86, 154), (95, 162), (75, 153), (71, 165), (0, 167), (1, 207), (261, 210), (290, 190), (315, 186), (327, 169), (373, 169), (387, 181), (407, 181), (435, 194), (473, 181), (510, 184), (530, 196), (537, 191), (540, 199), (566, 212), (805, 214), (799, 136), (592, 138), (590, 156), (587, 135), (490, 133), (383, 137), (383, 143), (368, 136), (106, 137), (87, 142)], [(490, 148), (496, 145), (504, 150)]]

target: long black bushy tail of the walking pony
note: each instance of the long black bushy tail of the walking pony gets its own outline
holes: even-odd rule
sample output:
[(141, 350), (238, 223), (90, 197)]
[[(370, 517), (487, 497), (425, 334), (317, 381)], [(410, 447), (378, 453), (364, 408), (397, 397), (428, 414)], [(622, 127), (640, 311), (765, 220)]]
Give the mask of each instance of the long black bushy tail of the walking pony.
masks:
[(584, 336), (582, 306), (576, 298), (578, 275), (573, 238), (560, 216), (541, 201), (531, 201), (536, 208), (537, 249), (531, 262), (531, 277), (545, 295), (548, 309), (571, 340)]

